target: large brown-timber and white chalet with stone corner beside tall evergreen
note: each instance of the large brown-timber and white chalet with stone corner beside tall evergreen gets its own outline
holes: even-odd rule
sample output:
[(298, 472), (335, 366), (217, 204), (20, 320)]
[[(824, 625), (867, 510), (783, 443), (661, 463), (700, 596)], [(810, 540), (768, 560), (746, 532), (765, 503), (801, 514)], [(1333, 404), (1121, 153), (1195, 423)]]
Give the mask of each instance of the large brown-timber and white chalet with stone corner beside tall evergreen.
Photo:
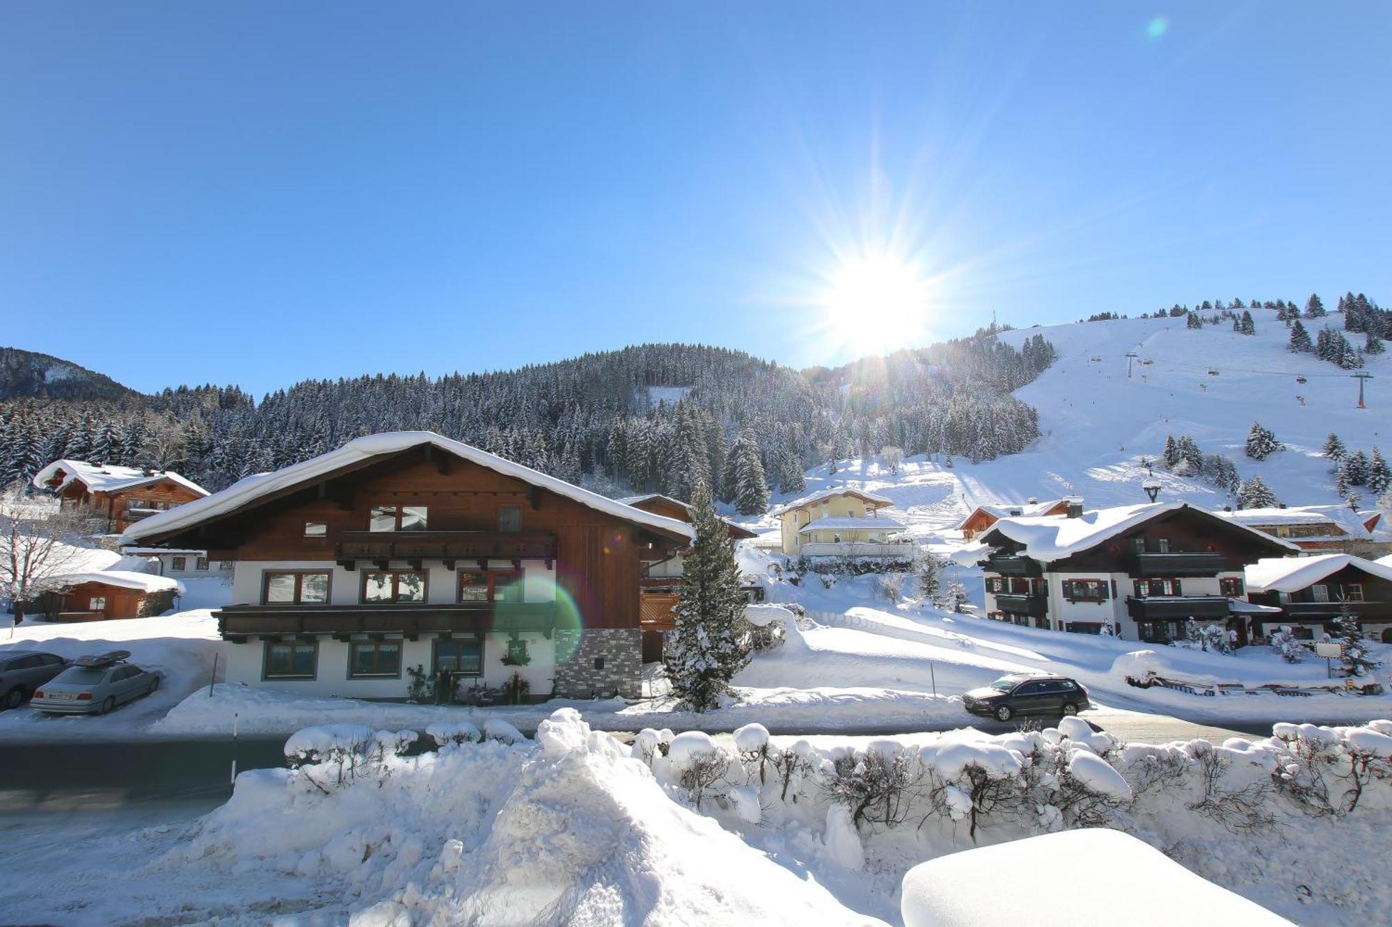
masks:
[(228, 682), (405, 697), (408, 668), (532, 697), (636, 696), (643, 565), (685, 522), (429, 431), (373, 434), (141, 521), (232, 561)]

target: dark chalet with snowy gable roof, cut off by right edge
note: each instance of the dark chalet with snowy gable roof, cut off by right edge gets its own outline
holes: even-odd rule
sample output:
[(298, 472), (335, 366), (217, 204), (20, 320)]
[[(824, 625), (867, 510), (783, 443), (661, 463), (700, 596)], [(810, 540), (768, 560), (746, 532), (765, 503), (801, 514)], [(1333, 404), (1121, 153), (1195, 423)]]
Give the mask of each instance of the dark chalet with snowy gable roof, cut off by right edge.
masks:
[(1297, 637), (1318, 637), (1347, 608), (1364, 633), (1392, 643), (1392, 562), (1350, 554), (1258, 560), (1247, 566), (1247, 592), (1251, 601), (1279, 610), (1253, 617), (1257, 633), (1285, 625)]

